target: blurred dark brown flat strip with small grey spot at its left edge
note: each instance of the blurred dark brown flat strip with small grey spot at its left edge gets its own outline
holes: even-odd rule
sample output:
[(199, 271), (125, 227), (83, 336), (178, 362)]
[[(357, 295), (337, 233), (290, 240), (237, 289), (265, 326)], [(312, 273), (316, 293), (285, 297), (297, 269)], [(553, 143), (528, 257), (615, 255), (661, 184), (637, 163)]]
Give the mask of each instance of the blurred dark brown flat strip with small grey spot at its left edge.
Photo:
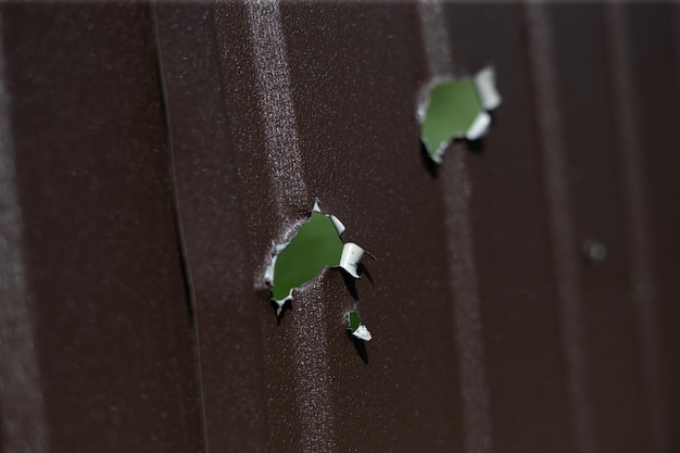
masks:
[[(628, 284), (629, 251), (620, 188), (621, 161), (616, 147), (616, 116), (608, 77), (607, 40), (602, 39), (606, 9), (559, 7), (555, 21), (559, 106), (564, 112), (566, 171), (574, 201), (579, 244), (597, 240), (607, 248), (601, 265), (580, 266), (585, 352), (585, 395), (597, 451), (645, 452), (647, 426), (643, 404), (635, 310)], [(574, 30), (578, 29), (578, 34)], [(606, 209), (603, 209), (606, 206)], [(585, 260), (584, 260), (585, 263)], [(627, 432), (627, 436), (621, 436)]]

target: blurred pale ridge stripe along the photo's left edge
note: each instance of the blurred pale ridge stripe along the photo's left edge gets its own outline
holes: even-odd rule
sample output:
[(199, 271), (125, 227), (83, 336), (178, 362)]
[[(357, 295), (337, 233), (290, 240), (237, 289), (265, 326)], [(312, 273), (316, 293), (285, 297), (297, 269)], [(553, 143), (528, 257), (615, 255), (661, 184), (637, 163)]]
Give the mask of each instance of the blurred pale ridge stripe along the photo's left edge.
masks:
[(22, 249), (2, 21), (0, 9), (0, 450), (46, 452), (48, 428)]

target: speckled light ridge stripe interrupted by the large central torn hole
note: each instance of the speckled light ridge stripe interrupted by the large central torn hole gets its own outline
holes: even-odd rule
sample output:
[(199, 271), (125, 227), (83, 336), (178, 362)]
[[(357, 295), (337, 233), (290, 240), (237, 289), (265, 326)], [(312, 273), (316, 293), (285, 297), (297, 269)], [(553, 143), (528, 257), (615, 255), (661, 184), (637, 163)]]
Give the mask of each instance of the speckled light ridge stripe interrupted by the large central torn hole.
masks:
[[(251, 45), (257, 77), (260, 110), (265, 128), (269, 184), (276, 213), (290, 222), (307, 188), (292, 102), (288, 55), (278, 0), (247, 3)], [(311, 207), (311, 206), (310, 206)], [(299, 305), (292, 324), (295, 330), (295, 403), (301, 423), (301, 452), (333, 452), (335, 417), (330, 399), (328, 344), (319, 302), (318, 282), (300, 291), (292, 302)]]

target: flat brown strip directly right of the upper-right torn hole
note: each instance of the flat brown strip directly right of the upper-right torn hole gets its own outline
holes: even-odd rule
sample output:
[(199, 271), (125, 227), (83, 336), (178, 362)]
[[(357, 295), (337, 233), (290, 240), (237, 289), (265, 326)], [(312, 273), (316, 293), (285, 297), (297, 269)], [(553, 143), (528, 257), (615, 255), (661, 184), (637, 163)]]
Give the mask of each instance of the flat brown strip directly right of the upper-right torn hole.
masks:
[(503, 95), (483, 150), (456, 150), (471, 177), (494, 451), (572, 451), (521, 10), (445, 11), (458, 74), (492, 62)]

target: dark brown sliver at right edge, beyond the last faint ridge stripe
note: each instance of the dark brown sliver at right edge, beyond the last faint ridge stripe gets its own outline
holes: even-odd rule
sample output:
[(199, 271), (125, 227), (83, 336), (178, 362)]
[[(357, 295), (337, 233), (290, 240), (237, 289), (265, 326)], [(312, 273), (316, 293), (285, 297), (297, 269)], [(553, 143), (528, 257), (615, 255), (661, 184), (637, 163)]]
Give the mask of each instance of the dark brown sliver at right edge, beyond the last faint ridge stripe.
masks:
[[(654, 304), (658, 323), (653, 330), (659, 336), (664, 395), (664, 425), (669, 451), (680, 448), (680, 215), (678, 179), (672, 168), (680, 164), (673, 140), (680, 117), (680, 18), (678, 7), (631, 7), (627, 16), (630, 36), (629, 59), (633, 72), (634, 99), (630, 100), (639, 118), (641, 167), (644, 172), (650, 231), (651, 281), (644, 286), (646, 300)], [(653, 30), (653, 33), (651, 32)], [(675, 47), (670, 46), (675, 42)], [(654, 49), (644, 52), (643, 49)], [(666, 64), (665, 62), (668, 62)], [(673, 64), (671, 64), (671, 62)], [(652, 70), (654, 67), (654, 70)]]

